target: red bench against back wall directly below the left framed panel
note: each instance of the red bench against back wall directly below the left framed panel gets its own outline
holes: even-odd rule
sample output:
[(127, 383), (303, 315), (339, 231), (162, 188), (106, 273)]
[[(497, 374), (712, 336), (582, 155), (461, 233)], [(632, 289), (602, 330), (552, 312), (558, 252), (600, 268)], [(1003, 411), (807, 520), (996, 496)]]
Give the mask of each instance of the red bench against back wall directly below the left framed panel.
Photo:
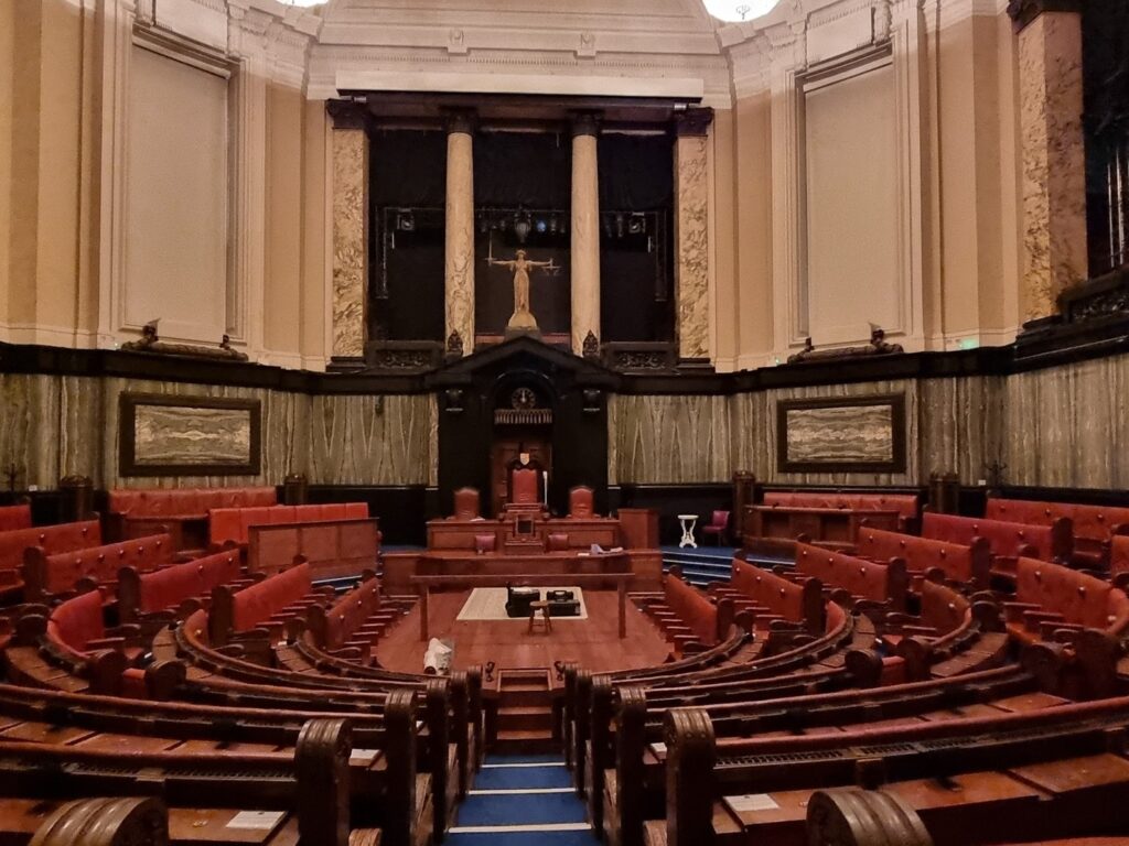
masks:
[(110, 521), (117, 539), (152, 535), (156, 527), (173, 536), (176, 549), (203, 548), (207, 544), (208, 512), (273, 505), (273, 487), (145, 488), (110, 492)]

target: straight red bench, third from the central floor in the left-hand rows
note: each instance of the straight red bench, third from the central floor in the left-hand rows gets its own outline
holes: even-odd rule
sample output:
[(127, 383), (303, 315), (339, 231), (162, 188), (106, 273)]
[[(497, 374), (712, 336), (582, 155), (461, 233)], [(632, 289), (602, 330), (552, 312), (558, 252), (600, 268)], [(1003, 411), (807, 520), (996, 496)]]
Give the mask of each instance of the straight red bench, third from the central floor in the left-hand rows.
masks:
[(117, 617), (122, 623), (175, 611), (184, 618), (202, 607), (212, 588), (234, 584), (242, 576), (239, 554), (234, 550), (194, 558), (151, 572), (135, 566), (117, 573)]

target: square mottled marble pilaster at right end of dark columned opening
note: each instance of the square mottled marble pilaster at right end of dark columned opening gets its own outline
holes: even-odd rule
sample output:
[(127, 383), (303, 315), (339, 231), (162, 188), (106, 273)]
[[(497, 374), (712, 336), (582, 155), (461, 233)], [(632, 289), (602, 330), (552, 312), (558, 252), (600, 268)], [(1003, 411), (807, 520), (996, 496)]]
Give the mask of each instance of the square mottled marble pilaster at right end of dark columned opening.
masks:
[(675, 118), (674, 284), (679, 358), (709, 358), (709, 126), (714, 109)]

